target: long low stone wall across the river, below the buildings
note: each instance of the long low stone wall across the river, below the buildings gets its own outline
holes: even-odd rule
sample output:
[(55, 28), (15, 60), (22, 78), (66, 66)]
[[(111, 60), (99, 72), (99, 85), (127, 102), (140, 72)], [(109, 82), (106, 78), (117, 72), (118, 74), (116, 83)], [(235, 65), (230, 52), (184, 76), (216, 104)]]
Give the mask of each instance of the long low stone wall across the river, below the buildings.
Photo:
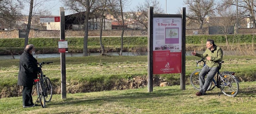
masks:
[[(198, 35), (208, 34), (208, 28), (186, 29), (186, 35), (193, 35), (197, 31)], [(88, 36), (99, 36), (99, 30), (88, 31)], [(103, 30), (102, 36), (121, 36), (122, 30)], [(252, 34), (253, 28), (240, 28), (238, 34)], [(256, 33), (256, 30), (254, 31)], [(59, 31), (34, 31), (29, 32), (29, 38), (59, 37)], [(147, 36), (147, 30), (125, 30), (123, 36)], [(65, 31), (66, 37), (83, 37), (84, 31)], [(0, 31), (0, 38), (19, 38), (19, 30)]]

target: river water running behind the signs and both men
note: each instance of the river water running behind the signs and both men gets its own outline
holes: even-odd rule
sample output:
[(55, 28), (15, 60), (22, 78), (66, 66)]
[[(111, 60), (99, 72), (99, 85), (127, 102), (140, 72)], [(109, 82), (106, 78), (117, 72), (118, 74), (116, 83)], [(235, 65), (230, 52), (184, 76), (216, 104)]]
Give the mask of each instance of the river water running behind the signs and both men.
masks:
[[(186, 56), (191, 56), (191, 52), (192, 51), (186, 51)], [(196, 51), (197, 53), (204, 53), (205, 51)], [(230, 50), (230, 51), (223, 51), (223, 55), (229, 55), (229, 56), (236, 56), (236, 55), (255, 55), (256, 50), (255, 51), (244, 51), (244, 52), (240, 52), (240, 51), (234, 51), (234, 50)], [(90, 55), (88, 54), (88, 56), (99, 56), (101, 53), (90, 53)], [(110, 53), (106, 53), (107, 55), (110, 56), (119, 56), (119, 52), (110, 52)], [(140, 53), (136, 53), (136, 52), (123, 52), (123, 56), (138, 56), (138, 55), (147, 55), (147, 52), (140, 52)], [(50, 58), (50, 57), (60, 57), (60, 53), (55, 53), (55, 54), (35, 54), (33, 55), (35, 58)], [(83, 53), (66, 53), (66, 57), (82, 57)], [(20, 55), (14, 55), (15, 59), (19, 59)], [(11, 55), (0, 55), (0, 59), (12, 59)]]

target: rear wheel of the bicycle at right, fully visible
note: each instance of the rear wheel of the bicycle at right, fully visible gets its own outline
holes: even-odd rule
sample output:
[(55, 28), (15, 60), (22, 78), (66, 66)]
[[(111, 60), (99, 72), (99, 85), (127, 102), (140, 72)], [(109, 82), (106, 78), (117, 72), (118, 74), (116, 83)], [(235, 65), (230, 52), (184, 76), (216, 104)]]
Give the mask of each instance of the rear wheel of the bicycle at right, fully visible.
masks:
[(219, 87), (222, 89), (222, 93), (235, 97), (239, 91), (239, 83), (234, 75), (231, 74), (223, 74), (221, 75), (222, 79), (219, 78)]

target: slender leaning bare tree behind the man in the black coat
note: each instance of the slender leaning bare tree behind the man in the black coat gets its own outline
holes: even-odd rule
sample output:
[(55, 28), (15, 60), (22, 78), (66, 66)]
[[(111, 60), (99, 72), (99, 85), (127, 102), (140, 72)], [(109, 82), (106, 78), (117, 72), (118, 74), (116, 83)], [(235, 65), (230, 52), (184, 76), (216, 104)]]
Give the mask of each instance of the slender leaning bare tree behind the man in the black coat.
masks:
[[(49, 1), (54, 0), (23, 0), (23, 4), (29, 5), (28, 11), (28, 21), (27, 21), (27, 29), (26, 29), (26, 37), (25, 37), (25, 46), (28, 44), (28, 36), (31, 28), (31, 21), (35, 14), (46, 12), (54, 7), (54, 4), (50, 4)], [(40, 11), (40, 12), (39, 12)]]

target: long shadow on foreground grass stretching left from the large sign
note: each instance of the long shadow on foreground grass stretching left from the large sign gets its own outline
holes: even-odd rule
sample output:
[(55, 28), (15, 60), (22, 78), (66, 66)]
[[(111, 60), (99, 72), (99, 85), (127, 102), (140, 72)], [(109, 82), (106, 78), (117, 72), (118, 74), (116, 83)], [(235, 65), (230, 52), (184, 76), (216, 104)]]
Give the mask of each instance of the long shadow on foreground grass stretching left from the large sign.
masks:
[(190, 92), (185, 92), (179, 89), (166, 89), (166, 90), (155, 90), (152, 93), (148, 92), (129, 92), (129, 93), (120, 93), (119, 95), (113, 96), (102, 96), (102, 97), (89, 97), (89, 98), (67, 98), (62, 102), (52, 102), (47, 104), (48, 106), (63, 106), (65, 105), (79, 105), (79, 104), (90, 104), (90, 105), (99, 105), (102, 102), (135, 102), (141, 99), (141, 101), (152, 98), (164, 97), (164, 96), (182, 96), (191, 94)]

